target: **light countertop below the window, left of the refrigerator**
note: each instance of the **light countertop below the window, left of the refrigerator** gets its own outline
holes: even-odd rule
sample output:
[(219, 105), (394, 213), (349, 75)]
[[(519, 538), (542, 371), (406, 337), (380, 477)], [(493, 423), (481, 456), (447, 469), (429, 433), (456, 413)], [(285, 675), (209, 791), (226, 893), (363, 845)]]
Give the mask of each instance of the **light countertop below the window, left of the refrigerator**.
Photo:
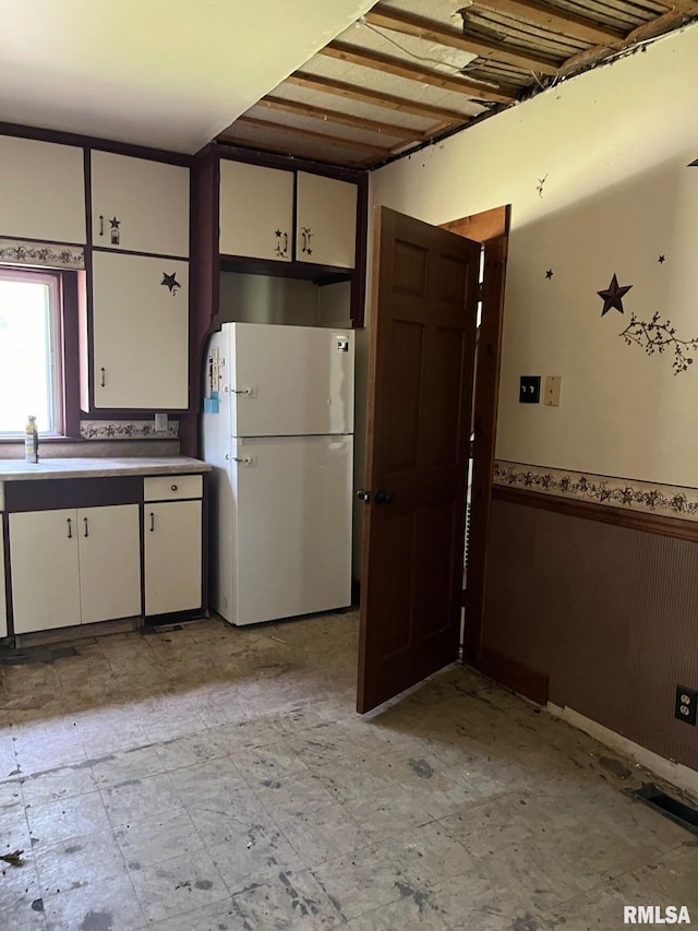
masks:
[(0, 481), (39, 478), (109, 478), (115, 475), (185, 475), (210, 472), (212, 466), (188, 456), (111, 458), (0, 459)]

